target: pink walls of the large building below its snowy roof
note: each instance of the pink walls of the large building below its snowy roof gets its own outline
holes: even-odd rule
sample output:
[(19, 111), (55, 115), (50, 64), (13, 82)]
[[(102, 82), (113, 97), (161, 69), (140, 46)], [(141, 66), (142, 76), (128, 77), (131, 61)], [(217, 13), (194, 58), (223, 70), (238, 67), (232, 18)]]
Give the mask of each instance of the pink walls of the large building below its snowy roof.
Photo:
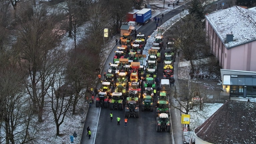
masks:
[(210, 52), (223, 69), (256, 71), (256, 41), (227, 49), (207, 20), (205, 24)]

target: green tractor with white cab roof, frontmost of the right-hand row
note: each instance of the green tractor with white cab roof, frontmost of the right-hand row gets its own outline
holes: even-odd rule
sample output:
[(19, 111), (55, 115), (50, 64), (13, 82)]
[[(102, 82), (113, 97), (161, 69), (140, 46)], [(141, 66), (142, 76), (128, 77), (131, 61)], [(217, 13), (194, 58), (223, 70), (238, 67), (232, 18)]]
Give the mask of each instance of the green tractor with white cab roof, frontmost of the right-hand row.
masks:
[(166, 113), (159, 114), (156, 118), (156, 131), (161, 132), (165, 129), (166, 132), (171, 131), (170, 117)]

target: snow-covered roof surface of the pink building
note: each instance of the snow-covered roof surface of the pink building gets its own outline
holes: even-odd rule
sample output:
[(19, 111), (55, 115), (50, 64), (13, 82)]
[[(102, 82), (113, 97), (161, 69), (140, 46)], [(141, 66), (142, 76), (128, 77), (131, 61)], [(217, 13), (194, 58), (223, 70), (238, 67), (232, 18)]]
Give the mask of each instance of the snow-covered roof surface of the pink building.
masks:
[[(205, 16), (227, 48), (256, 40), (256, 12), (234, 6)], [(226, 34), (234, 40), (226, 43)]]

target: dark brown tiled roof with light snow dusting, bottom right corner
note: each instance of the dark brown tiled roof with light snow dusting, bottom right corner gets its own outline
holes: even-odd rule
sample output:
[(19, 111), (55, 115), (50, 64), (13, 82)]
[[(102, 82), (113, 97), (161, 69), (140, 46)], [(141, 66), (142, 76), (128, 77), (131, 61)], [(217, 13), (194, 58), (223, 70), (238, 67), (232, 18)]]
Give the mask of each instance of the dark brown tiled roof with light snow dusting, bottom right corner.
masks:
[(256, 141), (256, 103), (226, 101), (202, 125), (195, 135), (216, 144), (251, 144)]

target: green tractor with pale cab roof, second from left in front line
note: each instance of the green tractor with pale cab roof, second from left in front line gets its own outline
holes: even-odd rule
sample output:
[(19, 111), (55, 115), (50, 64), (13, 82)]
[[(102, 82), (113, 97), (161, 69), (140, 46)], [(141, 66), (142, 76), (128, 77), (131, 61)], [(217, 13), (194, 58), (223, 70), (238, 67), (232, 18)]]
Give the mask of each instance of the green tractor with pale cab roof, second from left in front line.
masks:
[(122, 93), (113, 92), (111, 99), (110, 99), (110, 103), (109, 103), (109, 109), (123, 110), (123, 106), (124, 106), (124, 104), (123, 104), (123, 99), (122, 99)]

